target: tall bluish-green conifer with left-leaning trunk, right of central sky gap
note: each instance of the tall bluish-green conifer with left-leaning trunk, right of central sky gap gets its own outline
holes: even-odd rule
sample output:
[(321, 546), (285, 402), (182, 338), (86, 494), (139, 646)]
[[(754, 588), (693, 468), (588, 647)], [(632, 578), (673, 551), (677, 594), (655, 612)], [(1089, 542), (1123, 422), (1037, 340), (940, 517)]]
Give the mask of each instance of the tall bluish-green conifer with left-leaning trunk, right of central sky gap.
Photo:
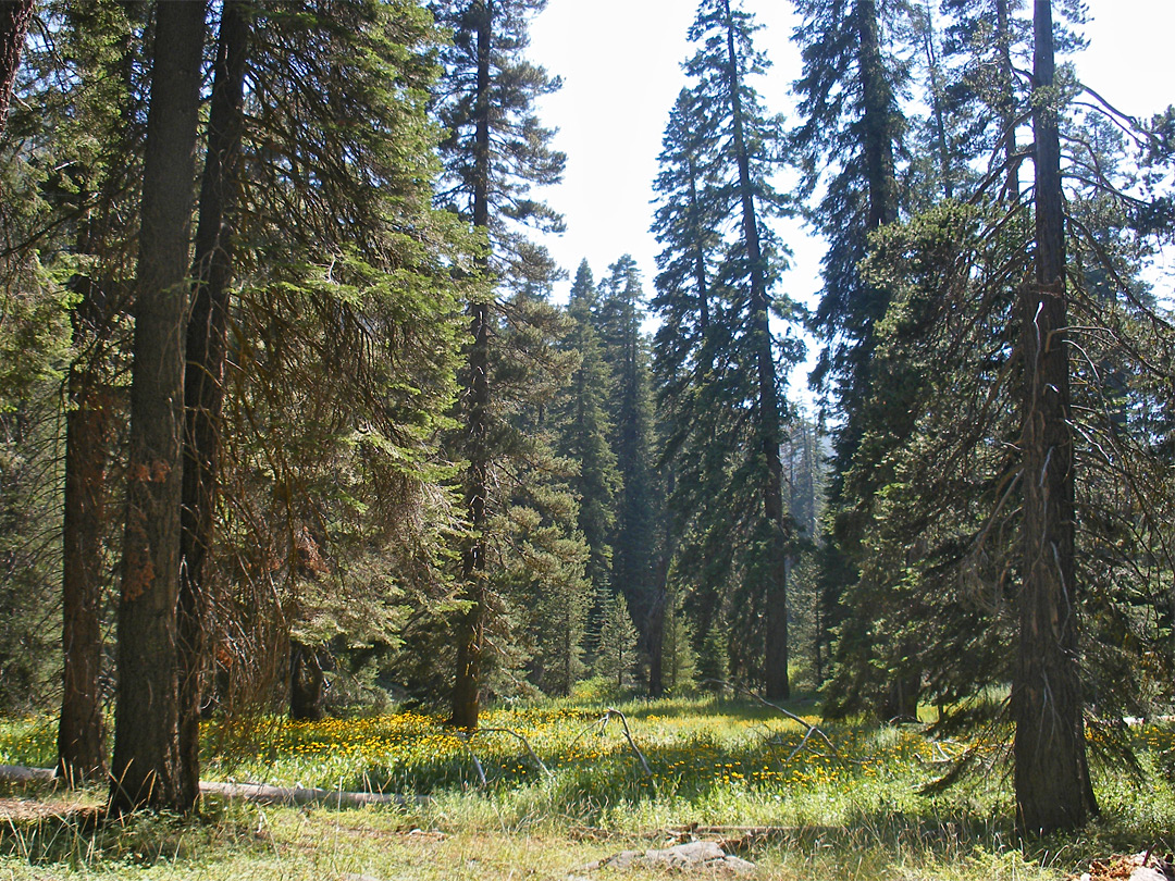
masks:
[[(744, 628), (740, 666), (761, 675), (771, 695), (784, 697), (791, 522), (783, 503), (777, 364), (794, 359), (798, 349), (781, 345), (770, 325), (772, 311), (792, 311), (772, 290), (783, 255), (766, 223), (788, 206), (768, 183), (779, 121), (747, 85), (766, 63), (754, 52), (753, 32), (751, 18), (725, 0), (703, 2), (690, 29), (700, 43), (685, 66), (694, 85), (674, 107), (657, 180), (653, 228), (664, 249), (653, 305), (666, 325), (654, 366), (667, 413), (680, 552), (697, 561), (678, 571), (700, 576), (696, 591), (711, 594), (710, 614), (717, 597), (733, 600), (733, 624)], [(703, 132), (721, 137), (694, 134)], [(685, 207), (673, 208), (683, 193)], [(684, 334), (674, 343), (666, 337), (677, 329)], [(740, 415), (744, 408), (753, 418)]]

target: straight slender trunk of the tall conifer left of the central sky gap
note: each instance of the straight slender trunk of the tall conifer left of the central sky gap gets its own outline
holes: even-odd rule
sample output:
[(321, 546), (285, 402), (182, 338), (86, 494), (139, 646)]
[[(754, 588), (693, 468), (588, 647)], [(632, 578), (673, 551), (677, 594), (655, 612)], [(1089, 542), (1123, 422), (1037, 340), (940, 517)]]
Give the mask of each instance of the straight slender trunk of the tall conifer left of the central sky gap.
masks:
[[(490, 49), (492, 8), (488, 0), (474, 4), (477, 21), (477, 94), (474, 135), (474, 228), (489, 234), (490, 228)], [(489, 260), (478, 269), (490, 283)], [(490, 296), (488, 291), (486, 297)], [(449, 724), (464, 731), (477, 727), (481, 714), (483, 653), (485, 650), (485, 537), (486, 500), (490, 491), (489, 409), (490, 409), (490, 307), (485, 300), (469, 307), (469, 379), (465, 389), (465, 424), (469, 468), (465, 476), (465, 511), (471, 536), (462, 554), (463, 596), (469, 605), (457, 619), (457, 671), (452, 687), (452, 714)]]

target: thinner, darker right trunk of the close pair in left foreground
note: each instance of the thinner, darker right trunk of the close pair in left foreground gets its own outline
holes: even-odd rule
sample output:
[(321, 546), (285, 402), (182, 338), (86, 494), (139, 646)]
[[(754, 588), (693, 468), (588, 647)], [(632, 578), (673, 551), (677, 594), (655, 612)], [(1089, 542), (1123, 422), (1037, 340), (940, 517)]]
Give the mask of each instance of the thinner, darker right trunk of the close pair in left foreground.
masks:
[(233, 274), (234, 193), (240, 179), (244, 127), (248, 13), (228, 0), (221, 14), (216, 73), (208, 113), (208, 154), (200, 187), (200, 224), (193, 274), (196, 288), (188, 323), (184, 371), (186, 430), (180, 533), (180, 760), (184, 798), (200, 785), (201, 675), (212, 616), (208, 560), (220, 472), (220, 429), (228, 352), (228, 285)]

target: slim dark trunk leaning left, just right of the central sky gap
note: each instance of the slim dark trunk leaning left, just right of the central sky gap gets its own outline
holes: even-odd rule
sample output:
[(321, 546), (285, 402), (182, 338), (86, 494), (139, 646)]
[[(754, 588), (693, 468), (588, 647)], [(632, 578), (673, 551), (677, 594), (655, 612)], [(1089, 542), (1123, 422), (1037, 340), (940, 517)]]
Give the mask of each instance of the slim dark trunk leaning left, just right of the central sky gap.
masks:
[(767, 539), (768, 584), (766, 585), (766, 645), (764, 648), (764, 691), (773, 700), (791, 695), (787, 675), (787, 540), (791, 522), (784, 509), (784, 463), (779, 457), (779, 392), (776, 388), (776, 357), (771, 343), (767, 310), (767, 273), (759, 241), (754, 209), (751, 159), (743, 132), (743, 99), (738, 59), (734, 52), (734, 25), (730, 0), (723, 0), (726, 15), (726, 58), (731, 83), (731, 120), (738, 159), (739, 199), (743, 206), (743, 237), (751, 270), (751, 334), (753, 335), (759, 379), (758, 452), (763, 457), (761, 492), (764, 515), (771, 533)]

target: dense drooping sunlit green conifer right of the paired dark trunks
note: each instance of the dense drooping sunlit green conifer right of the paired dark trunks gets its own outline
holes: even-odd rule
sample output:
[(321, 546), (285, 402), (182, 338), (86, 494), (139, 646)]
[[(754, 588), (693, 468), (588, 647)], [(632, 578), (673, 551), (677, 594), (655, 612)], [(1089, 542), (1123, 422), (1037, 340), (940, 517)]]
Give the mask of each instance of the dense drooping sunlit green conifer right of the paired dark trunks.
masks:
[[(313, 6), (313, 5), (310, 5)], [(415, 0), (256, 9), (214, 584), (224, 705), (325, 712), (335, 648), (446, 599), (468, 234), (432, 204), (439, 35)], [(313, 419), (303, 418), (314, 413)], [(231, 565), (229, 565), (231, 561)], [(301, 648), (300, 648), (301, 646)], [(275, 680), (281, 680), (277, 686)], [(291, 707), (294, 709), (294, 707)]]

